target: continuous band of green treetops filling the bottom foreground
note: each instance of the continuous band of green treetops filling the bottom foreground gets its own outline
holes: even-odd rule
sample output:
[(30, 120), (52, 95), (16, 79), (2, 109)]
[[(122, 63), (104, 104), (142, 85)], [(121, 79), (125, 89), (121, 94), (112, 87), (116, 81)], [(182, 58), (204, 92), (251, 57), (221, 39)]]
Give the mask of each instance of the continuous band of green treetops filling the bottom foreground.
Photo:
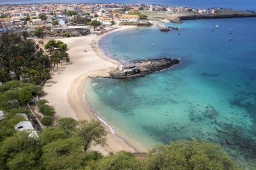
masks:
[(238, 169), (220, 146), (210, 142), (179, 140), (158, 145), (143, 159), (125, 151), (103, 157), (89, 150), (94, 144), (106, 144), (106, 131), (100, 122), (63, 118), (35, 137), (13, 130), (22, 118), (8, 114), (0, 122), (0, 169)]

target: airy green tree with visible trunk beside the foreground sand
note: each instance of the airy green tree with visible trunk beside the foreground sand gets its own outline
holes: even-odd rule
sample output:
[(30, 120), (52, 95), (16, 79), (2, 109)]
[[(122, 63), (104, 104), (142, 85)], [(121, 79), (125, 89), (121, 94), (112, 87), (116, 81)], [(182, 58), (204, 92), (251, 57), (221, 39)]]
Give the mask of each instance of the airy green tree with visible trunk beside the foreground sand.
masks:
[(77, 135), (83, 139), (84, 151), (87, 151), (92, 145), (104, 146), (106, 144), (106, 130), (96, 120), (91, 120), (88, 122), (84, 120), (79, 122), (77, 127)]

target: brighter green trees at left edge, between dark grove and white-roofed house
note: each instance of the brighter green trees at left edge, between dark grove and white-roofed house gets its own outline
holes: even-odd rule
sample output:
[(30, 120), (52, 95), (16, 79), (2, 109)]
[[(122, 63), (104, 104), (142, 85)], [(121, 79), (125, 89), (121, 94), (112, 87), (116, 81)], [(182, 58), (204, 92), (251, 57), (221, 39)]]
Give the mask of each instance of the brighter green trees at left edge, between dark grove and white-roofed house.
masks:
[(15, 134), (14, 126), (24, 120), (18, 113), (30, 113), (24, 101), (29, 103), (31, 96), (42, 92), (42, 87), (21, 81), (8, 81), (0, 86), (0, 110), (5, 111), (5, 120), (0, 121), (0, 142)]

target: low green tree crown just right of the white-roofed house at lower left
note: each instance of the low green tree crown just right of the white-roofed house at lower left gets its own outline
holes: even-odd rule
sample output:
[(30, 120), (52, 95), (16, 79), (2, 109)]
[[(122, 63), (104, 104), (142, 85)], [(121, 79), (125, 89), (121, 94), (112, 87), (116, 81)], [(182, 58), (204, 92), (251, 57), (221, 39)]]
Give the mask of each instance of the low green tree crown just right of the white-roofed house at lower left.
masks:
[(40, 133), (40, 140), (42, 144), (49, 144), (59, 139), (69, 138), (71, 134), (67, 130), (57, 127), (44, 128)]

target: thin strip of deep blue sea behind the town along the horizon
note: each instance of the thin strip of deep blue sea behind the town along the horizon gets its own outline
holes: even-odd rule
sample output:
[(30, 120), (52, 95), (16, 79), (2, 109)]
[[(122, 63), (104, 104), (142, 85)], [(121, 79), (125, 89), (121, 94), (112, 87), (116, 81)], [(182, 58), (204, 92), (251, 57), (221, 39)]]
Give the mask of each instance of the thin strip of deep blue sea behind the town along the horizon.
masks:
[(255, 0), (11, 0), (5, 1), (1, 0), (1, 4), (18, 4), (18, 3), (149, 3), (149, 4), (162, 4), (171, 6), (189, 6), (195, 8), (208, 8), (208, 7), (225, 7), (232, 9), (242, 9), (242, 10), (255, 10), (256, 2)]

